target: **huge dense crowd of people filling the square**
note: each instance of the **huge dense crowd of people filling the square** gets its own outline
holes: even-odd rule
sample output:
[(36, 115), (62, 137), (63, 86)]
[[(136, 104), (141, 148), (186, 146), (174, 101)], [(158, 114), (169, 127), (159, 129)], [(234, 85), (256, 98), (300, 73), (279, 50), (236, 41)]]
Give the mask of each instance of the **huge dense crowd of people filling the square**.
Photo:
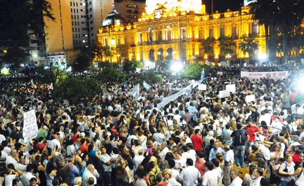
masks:
[[(3, 78), (3, 185), (303, 186), (302, 69), (248, 65), (248, 71), (289, 72), (286, 79), (248, 80), (239, 67), (212, 66), (202, 81), (206, 90), (196, 87), (162, 108), (191, 80), (160, 70), (163, 81), (135, 99), (136, 73), (129, 73), (106, 82), (102, 95), (58, 100), (51, 84)], [(235, 92), (220, 98), (230, 84)], [(255, 101), (247, 102), (248, 95)], [(24, 141), (23, 115), (30, 110), (39, 130)]]

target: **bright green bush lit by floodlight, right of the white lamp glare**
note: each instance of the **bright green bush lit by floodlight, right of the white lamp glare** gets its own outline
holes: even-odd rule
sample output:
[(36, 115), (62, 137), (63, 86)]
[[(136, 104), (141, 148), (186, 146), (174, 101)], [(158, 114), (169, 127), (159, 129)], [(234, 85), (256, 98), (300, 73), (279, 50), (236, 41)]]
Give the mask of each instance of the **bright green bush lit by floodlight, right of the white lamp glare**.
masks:
[(205, 68), (205, 76), (209, 73), (210, 65), (207, 64), (198, 64), (198, 63), (191, 63), (186, 66), (184, 76), (193, 79), (199, 79), (202, 74), (202, 70)]

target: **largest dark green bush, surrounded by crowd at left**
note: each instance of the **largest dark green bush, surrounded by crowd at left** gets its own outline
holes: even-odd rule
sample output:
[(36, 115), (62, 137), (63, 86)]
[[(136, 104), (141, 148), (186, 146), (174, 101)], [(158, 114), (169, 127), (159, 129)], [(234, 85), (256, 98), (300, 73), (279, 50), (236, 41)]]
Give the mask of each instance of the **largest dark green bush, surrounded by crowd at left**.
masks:
[(80, 100), (93, 97), (101, 92), (101, 86), (92, 78), (67, 75), (61, 77), (54, 86), (54, 94), (60, 99)]

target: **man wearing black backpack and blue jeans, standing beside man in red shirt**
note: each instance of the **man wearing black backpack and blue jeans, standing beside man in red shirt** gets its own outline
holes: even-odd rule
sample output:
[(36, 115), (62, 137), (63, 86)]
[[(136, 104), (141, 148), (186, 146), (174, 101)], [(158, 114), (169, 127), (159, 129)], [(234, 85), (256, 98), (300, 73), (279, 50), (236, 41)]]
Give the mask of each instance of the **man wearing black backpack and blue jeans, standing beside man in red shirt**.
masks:
[(234, 138), (233, 146), (234, 146), (234, 159), (235, 163), (238, 167), (243, 166), (244, 154), (245, 154), (245, 143), (247, 143), (250, 139), (246, 130), (241, 129), (242, 124), (238, 123), (236, 125), (237, 130), (233, 131), (230, 135), (229, 139)]

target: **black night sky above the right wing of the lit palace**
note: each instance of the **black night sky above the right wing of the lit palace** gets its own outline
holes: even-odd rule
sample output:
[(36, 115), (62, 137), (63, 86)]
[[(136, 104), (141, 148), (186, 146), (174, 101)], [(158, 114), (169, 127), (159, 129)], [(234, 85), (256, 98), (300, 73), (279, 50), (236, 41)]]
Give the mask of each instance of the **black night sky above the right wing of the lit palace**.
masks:
[[(206, 12), (211, 13), (211, 0), (202, 0), (206, 5)], [(218, 10), (219, 13), (224, 13), (229, 8), (232, 11), (238, 10), (243, 6), (244, 0), (213, 0), (213, 13)], [(240, 5), (242, 4), (242, 5)]]

